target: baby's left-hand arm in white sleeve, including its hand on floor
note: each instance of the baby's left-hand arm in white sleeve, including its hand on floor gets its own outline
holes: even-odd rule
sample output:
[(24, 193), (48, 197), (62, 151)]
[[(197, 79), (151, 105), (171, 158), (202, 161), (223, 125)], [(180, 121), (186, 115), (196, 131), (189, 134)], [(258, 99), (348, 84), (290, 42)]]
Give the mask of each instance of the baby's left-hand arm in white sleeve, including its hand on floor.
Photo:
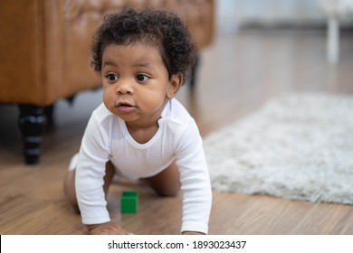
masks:
[[(102, 107), (95, 110), (81, 141), (79, 161), (76, 167), (76, 196), (81, 211), (82, 223), (90, 234), (129, 234), (110, 220), (107, 210), (106, 184), (110, 155), (109, 122), (101, 122)], [(104, 123), (107, 123), (106, 126)]]

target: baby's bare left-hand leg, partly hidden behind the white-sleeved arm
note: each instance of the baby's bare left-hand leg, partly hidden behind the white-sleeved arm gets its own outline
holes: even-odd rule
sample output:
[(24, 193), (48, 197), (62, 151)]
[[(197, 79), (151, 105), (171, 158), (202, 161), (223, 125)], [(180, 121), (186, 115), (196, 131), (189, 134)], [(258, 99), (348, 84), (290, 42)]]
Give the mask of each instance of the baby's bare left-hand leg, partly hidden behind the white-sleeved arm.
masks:
[[(110, 162), (106, 164), (105, 168), (106, 170), (104, 176), (103, 190), (105, 192), (105, 195), (107, 196), (107, 192), (115, 172), (113, 165)], [(75, 169), (70, 170), (65, 174), (65, 177), (63, 179), (63, 191), (65, 193), (66, 200), (69, 202), (69, 205), (72, 207), (73, 211), (80, 212), (75, 191), (75, 175)]]

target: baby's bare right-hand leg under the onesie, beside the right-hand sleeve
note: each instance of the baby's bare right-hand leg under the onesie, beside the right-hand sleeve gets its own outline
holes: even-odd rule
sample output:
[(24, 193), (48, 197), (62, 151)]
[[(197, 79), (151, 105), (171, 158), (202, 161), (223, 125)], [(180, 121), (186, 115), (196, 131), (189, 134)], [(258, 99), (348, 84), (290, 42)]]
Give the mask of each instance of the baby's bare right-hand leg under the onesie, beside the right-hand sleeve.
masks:
[(161, 173), (145, 178), (144, 181), (161, 196), (175, 196), (181, 187), (180, 173), (175, 161)]

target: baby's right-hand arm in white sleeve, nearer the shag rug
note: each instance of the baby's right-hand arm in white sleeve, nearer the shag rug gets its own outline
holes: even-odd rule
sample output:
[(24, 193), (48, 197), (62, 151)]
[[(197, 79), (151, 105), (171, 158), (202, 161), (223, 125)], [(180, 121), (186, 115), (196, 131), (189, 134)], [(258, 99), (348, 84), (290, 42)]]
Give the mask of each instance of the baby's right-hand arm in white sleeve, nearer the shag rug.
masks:
[(183, 234), (206, 234), (212, 205), (212, 190), (201, 136), (192, 122), (180, 138), (176, 164), (183, 197)]

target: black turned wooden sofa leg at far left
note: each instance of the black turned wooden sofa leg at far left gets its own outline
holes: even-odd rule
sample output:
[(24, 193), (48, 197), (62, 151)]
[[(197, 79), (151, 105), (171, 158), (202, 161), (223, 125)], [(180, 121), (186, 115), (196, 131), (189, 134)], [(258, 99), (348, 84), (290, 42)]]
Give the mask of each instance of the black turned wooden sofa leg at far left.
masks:
[(38, 164), (46, 122), (44, 108), (33, 105), (19, 105), (18, 126), (22, 134), (25, 164)]

